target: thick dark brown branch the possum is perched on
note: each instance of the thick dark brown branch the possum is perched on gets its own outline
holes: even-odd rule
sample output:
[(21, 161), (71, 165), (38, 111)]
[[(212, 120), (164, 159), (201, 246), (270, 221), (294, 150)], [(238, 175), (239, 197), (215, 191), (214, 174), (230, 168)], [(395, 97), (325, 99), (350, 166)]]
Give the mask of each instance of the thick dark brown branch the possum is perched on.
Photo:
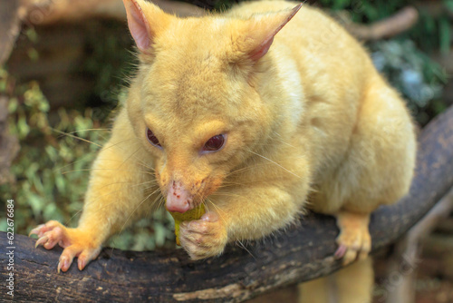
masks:
[[(453, 108), (421, 132), (418, 169), (410, 196), (371, 216), (373, 250), (399, 239), (453, 186)], [(15, 210), (20, 211), (20, 210)], [(104, 249), (80, 272), (56, 273), (61, 249), (34, 249), (34, 239), (14, 239), (17, 301), (240, 302), (286, 284), (327, 275), (338, 230), (333, 218), (310, 215), (275, 237), (229, 247), (216, 259), (193, 262), (182, 249), (130, 252)], [(6, 239), (0, 234), (1, 279), (6, 274)], [(8, 298), (5, 291), (0, 298)]]

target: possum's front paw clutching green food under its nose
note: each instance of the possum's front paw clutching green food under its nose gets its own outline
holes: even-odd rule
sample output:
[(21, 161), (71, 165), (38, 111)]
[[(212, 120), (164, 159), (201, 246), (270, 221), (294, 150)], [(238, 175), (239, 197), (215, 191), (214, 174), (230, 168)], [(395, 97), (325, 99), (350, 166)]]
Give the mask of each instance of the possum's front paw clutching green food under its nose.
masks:
[(221, 254), (226, 246), (225, 224), (214, 212), (207, 212), (200, 220), (182, 222), (179, 240), (190, 259), (206, 259)]

